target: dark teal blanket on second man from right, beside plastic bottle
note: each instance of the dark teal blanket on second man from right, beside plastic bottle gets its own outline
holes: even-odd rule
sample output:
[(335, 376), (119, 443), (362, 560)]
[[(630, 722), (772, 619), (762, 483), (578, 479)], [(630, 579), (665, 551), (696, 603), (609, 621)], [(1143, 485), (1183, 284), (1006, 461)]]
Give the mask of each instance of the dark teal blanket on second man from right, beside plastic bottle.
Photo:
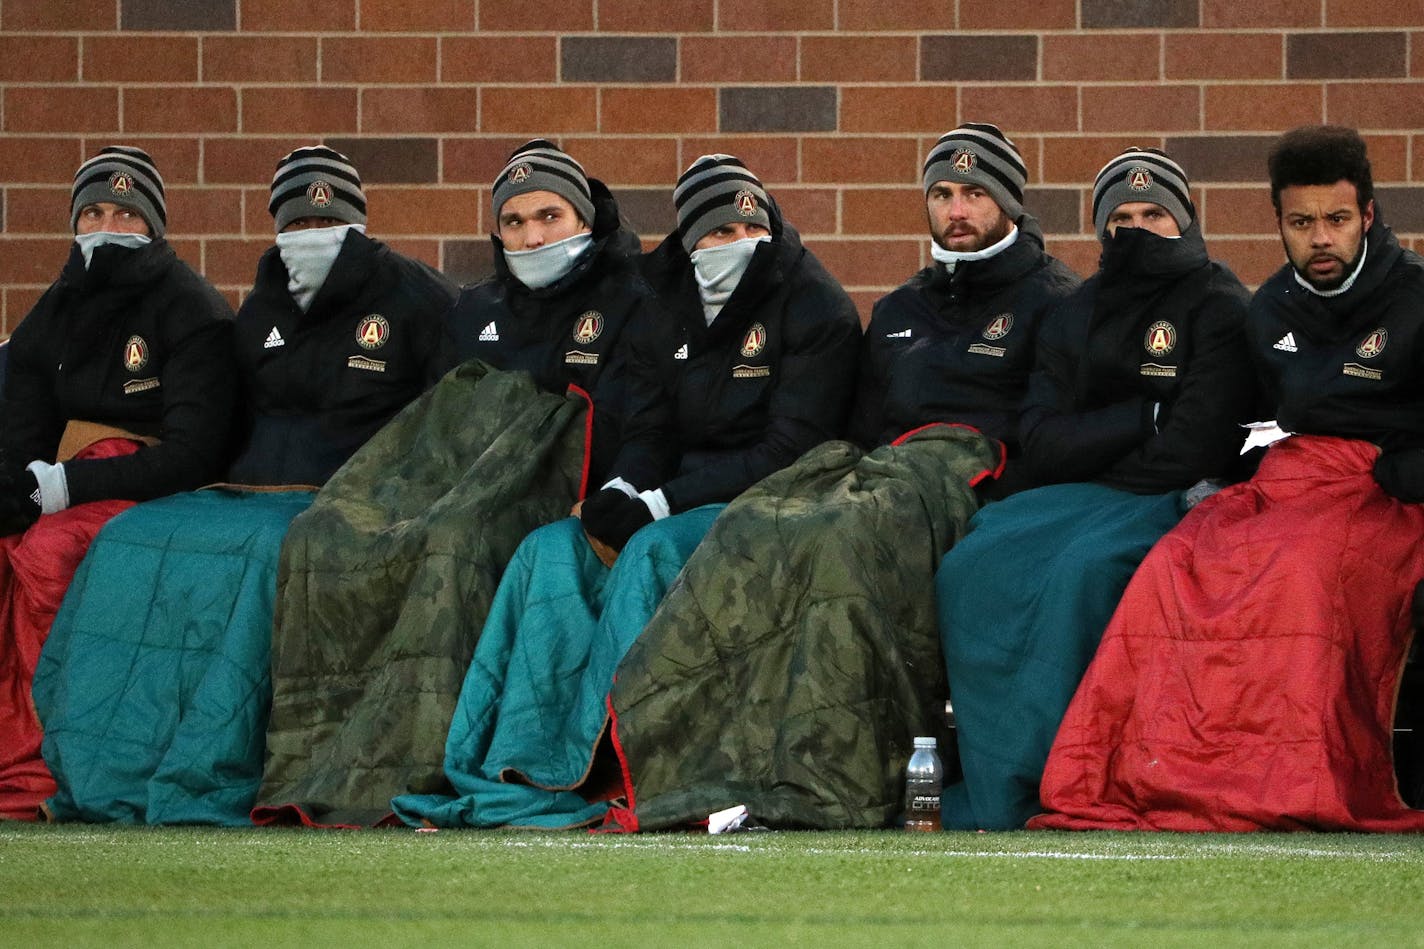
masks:
[(1058, 722), (1142, 557), (1182, 516), (1180, 493), (1052, 484), (988, 504), (936, 574), (964, 779), (946, 829), (1007, 831), (1041, 811)]

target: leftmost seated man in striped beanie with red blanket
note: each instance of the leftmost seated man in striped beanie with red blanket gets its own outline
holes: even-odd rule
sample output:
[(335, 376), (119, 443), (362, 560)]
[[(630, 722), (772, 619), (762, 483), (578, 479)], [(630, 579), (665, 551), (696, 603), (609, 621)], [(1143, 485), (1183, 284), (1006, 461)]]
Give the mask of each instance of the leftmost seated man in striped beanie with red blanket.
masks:
[(222, 470), (232, 311), (164, 239), (147, 152), (103, 148), (71, 194), (74, 247), (10, 339), (0, 405), (0, 816), (54, 791), (30, 683), (105, 520)]

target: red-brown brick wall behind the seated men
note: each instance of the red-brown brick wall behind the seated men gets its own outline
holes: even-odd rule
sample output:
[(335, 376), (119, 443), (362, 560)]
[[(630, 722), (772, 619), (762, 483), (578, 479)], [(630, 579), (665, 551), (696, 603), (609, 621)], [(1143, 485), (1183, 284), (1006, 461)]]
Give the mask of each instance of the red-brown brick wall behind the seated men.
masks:
[(1136, 144), (1182, 161), (1213, 256), (1260, 282), (1265, 151), (1317, 121), (1366, 133), (1386, 218), (1424, 244), (1424, 0), (0, 0), (0, 332), (64, 259), (74, 168), (120, 141), (234, 301), (292, 147), (352, 155), (372, 234), (468, 281), (490, 180), (551, 135), (649, 241), (688, 162), (742, 155), (869, 313), (927, 259), (920, 161), (968, 120), (1020, 144), (1082, 272), (1092, 175)]

